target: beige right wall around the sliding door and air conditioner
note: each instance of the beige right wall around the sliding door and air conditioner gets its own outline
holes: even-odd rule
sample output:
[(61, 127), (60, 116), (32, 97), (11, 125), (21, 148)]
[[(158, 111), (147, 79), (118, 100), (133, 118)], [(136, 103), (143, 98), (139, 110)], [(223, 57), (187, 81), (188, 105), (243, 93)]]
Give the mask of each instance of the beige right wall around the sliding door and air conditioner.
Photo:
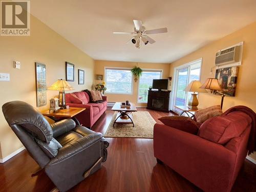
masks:
[[(215, 66), (215, 54), (218, 50), (237, 44), (244, 41), (242, 66), (239, 67), (237, 90), (235, 97), (225, 97), (223, 111), (235, 105), (246, 105), (253, 111), (256, 111), (256, 23), (248, 25), (234, 33), (231, 33), (210, 45), (207, 45), (170, 65), (170, 76), (174, 74), (174, 68), (184, 63), (203, 58), (201, 82), (206, 78), (215, 77), (215, 72), (210, 75), (210, 69)], [(206, 108), (207, 106), (220, 104), (221, 97), (208, 94), (199, 94), (199, 107)], [(256, 153), (253, 156), (256, 159)]]

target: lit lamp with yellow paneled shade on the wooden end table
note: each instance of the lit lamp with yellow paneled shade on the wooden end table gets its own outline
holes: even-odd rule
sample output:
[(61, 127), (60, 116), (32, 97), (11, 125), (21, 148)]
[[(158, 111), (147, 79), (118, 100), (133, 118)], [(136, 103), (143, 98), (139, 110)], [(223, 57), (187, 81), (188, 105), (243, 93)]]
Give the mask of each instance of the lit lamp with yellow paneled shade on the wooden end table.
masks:
[(59, 91), (59, 106), (61, 109), (66, 109), (65, 91), (71, 91), (74, 88), (66, 80), (58, 79), (48, 90)]

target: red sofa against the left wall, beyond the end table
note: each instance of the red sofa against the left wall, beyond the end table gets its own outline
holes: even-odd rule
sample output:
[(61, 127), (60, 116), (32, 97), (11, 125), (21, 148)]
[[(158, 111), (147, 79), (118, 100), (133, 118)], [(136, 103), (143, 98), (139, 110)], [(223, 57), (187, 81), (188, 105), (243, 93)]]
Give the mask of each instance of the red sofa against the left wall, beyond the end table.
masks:
[(91, 128), (93, 124), (100, 118), (100, 116), (106, 111), (108, 101), (106, 96), (102, 96), (104, 100), (102, 103), (90, 103), (89, 95), (84, 92), (74, 92), (80, 100), (81, 103), (74, 103), (73, 96), (71, 93), (67, 93), (66, 96), (66, 105), (76, 108), (86, 108), (83, 112), (76, 115), (78, 121), (88, 128)]

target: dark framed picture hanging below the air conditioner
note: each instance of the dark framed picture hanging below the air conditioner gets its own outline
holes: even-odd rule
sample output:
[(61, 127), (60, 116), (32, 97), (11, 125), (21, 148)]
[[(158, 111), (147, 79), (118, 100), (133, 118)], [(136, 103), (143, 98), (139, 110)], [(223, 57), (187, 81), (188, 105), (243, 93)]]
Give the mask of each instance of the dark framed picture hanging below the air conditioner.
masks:
[(224, 95), (235, 96), (238, 78), (237, 66), (217, 69), (215, 78), (219, 79)]

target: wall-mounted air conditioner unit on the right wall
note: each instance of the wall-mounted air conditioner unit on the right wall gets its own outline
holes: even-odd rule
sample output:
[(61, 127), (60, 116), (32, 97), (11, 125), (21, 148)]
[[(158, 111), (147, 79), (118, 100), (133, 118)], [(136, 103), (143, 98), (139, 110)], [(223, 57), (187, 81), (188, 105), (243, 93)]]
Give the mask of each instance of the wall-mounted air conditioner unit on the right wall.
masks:
[(241, 65), (243, 42), (216, 53), (215, 65)]

